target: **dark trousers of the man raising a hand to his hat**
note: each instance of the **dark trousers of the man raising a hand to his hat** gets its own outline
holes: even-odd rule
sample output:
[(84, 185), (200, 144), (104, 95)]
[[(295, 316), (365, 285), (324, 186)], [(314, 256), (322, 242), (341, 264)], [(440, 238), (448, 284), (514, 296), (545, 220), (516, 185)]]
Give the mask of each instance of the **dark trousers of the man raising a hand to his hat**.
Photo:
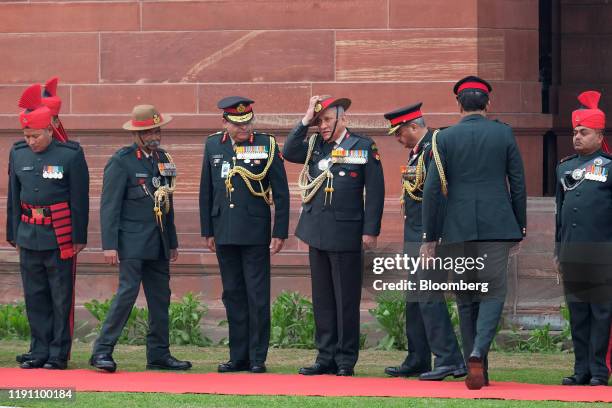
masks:
[(310, 247), (317, 362), (353, 368), (359, 356), (362, 253)]

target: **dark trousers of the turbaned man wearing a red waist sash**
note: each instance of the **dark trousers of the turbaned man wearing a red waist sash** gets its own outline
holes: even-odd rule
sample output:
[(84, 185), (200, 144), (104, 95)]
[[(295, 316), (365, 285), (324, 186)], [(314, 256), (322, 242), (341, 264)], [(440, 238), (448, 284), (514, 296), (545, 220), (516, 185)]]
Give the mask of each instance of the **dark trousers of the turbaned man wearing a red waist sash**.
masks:
[(58, 249), (33, 251), (23, 247), (19, 257), (32, 357), (68, 360), (72, 346), (72, 258), (60, 259)]

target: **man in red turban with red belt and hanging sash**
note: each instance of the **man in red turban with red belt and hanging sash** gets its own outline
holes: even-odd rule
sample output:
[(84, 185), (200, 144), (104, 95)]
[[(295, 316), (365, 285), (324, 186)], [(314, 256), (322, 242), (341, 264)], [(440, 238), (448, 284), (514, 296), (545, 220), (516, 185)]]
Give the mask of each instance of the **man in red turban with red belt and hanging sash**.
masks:
[(19, 106), (25, 141), (10, 152), (7, 241), (19, 252), (32, 339), (18, 359), (22, 368), (65, 369), (74, 255), (87, 243), (89, 172), (78, 143), (52, 138), (40, 85), (26, 89)]

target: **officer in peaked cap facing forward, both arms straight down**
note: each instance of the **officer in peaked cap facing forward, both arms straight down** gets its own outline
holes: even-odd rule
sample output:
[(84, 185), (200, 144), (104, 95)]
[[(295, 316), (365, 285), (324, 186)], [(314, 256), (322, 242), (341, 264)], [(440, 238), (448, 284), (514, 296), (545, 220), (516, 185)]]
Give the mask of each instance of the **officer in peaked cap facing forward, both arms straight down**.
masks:
[[(225, 130), (206, 140), (200, 220), (216, 252), (229, 324), (230, 360), (221, 373), (266, 371), (270, 341), (270, 253), (289, 228), (289, 187), (274, 136), (253, 130), (253, 101), (219, 101)], [(270, 207), (274, 206), (274, 228)]]

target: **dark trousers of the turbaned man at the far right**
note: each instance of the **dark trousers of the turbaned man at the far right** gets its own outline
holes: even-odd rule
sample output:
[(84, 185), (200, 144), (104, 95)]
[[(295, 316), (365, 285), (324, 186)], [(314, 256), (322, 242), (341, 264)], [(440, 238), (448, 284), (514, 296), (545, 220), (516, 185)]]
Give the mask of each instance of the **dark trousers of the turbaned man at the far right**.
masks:
[[(604, 380), (609, 376), (606, 355), (612, 301), (610, 283), (598, 282), (597, 279), (609, 276), (610, 268), (608, 265), (561, 263), (574, 344), (574, 373)], [(566, 277), (574, 280), (566, 280)], [(589, 281), (591, 279), (593, 281)]]

